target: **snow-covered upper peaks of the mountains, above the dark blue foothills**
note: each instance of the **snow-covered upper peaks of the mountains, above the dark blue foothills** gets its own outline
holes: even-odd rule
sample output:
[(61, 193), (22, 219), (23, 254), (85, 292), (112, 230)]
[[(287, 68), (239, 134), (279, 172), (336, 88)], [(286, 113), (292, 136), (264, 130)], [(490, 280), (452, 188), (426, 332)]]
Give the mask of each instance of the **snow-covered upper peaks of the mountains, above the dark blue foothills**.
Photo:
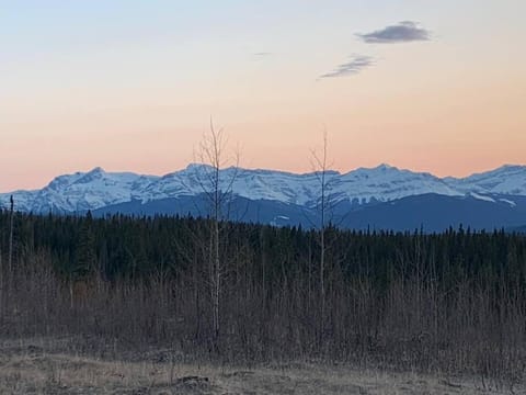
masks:
[[(0, 205), (7, 207), (9, 196), (13, 194), (19, 211), (75, 213), (132, 201), (147, 203), (192, 196), (208, 189), (211, 170), (205, 165), (190, 165), (180, 171), (158, 177), (105, 172), (95, 168), (89, 172), (57, 177), (42, 190), (0, 194)], [(224, 190), (233, 179), (233, 193), (253, 201), (313, 207), (320, 194), (317, 173), (227, 168), (220, 170), (219, 179)], [(471, 196), (485, 201), (500, 199), (513, 204), (508, 196), (526, 196), (526, 166), (504, 166), (464, 179), (442, 179), (430, 173), (380, 165), (343, 174), (329, 171), (327, 182), (334, 202), (352, 204), (391, 202), (424, 194)]]

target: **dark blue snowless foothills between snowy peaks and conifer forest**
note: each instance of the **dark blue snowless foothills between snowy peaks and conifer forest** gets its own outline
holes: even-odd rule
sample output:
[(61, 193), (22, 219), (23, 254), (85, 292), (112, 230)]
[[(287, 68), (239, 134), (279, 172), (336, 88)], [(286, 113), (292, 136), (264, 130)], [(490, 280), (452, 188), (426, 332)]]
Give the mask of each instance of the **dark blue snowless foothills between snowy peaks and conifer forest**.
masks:
[[(424, 194), (403, 198), (387, 203), (355, 205), (338, 203), (330, 211), (332, 222), (352, 229), (443, 232), (449, 227), (488, 229), (513, 228), (526, 223), (526, 198), (507, 196), (515, 203), (484, 201), (472, 196), (445, 196)], [(141, 203), (133, 201), (106, 206), (93, 212), (96, 216), (108, 214), (136, 216), (192, 215), (206, 216), (206, 200), (203, 196), (182, 196)], [(227, 214), (227, 213), (226, 213)], [(232, 221), (262, 223), (278, 226), (316, 227), (319, 213), (304, 206), (276, 201), (235, 198), (228, 217)]]

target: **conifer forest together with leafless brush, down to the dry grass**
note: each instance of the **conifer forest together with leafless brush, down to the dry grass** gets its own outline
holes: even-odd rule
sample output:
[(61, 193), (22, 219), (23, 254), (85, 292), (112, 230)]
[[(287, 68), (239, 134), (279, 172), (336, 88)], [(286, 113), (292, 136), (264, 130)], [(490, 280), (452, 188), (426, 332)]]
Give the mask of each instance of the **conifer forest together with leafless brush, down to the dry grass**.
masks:
[[(83, 335), (227, 362), (325, 359), (522, 380), (526, 238), (504, 232), (320, 232), (210, 219), (0, 214), (5, 336)], [(324, 307), (320, 308), (319, 282)], [(218, 340), (216, 342), (216, 340)]]

